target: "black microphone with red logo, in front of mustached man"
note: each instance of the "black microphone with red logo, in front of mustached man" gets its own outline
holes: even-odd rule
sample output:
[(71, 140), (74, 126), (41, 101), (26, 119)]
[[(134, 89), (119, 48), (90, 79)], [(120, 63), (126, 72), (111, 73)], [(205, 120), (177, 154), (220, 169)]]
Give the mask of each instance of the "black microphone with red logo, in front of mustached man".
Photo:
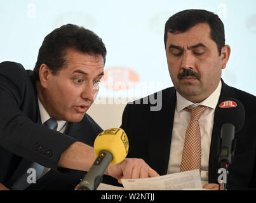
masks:
[(219, 167), (227, 168), (234, 157), (235, 133), (238, 133), (245, 123), (245, 107), (235, 98), (226, 98), (220, 101), (217, 111), (216, 122), (220, 127)]

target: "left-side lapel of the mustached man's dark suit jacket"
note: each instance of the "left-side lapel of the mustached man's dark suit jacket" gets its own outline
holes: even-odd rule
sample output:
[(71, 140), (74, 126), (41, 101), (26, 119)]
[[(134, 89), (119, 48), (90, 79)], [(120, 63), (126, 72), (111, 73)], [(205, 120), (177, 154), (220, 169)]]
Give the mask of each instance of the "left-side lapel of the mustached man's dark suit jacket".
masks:
[(176, 91), (168, 88), (162, 91), (162, 108), (152, 111), (151, 125), (149, 128), (149, 163), (163, 175), (167, 173), (170, 156), (170, 143), (174, 111), (176, 105)]

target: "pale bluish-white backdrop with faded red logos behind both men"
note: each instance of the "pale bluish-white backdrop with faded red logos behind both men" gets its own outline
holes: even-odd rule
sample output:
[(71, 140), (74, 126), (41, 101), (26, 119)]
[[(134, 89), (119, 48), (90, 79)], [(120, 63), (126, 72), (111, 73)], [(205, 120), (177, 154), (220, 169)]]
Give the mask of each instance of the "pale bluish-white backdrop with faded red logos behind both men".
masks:
[(0, 62), (10, 60), (33, 69), (44, 37), (61, 25), (75, 23), (102, 37), (107, 47), (105, 70), (112, 70), (108, 75), (114, 82), (135, 82), (129, 89), (102, 86), (99, 97), (149, 95), (172, 86), (163, 43), (165, 22), (174, 13), (190, 8), (220, 16), (226, 44), (231, 46), (222, 78), (256, 95), (255, 0), (1, 0)]

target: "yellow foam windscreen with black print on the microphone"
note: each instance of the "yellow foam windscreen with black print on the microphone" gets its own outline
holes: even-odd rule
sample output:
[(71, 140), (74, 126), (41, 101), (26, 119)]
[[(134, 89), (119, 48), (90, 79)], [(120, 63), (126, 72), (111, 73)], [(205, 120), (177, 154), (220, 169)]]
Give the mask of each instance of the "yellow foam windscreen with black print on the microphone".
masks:
[(102, 150), (107, 150), (113, 156), (110, 164), (118, 164), (125, 159), (129, 150), (129, 141), (125, 131), (121, 128), (111, 128), (98, 134), (94, 141), (96, 156)]

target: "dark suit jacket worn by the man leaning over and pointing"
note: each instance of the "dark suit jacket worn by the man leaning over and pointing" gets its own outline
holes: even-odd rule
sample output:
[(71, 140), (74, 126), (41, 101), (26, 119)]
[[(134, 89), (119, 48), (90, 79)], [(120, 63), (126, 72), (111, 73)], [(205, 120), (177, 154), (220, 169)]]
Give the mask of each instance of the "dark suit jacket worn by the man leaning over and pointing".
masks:
[(31, 70), (0, 63), (0, 183), (10, 188), (36, 161), (51, 171), (28, 189), (74, 190), (84, 172), (58, 168), (60, 155), (75, 141), (93, 146), (102, 128), (87, 114), (81, 122), (69, 123), (65, 134), (46, 128), (35, 84)]

